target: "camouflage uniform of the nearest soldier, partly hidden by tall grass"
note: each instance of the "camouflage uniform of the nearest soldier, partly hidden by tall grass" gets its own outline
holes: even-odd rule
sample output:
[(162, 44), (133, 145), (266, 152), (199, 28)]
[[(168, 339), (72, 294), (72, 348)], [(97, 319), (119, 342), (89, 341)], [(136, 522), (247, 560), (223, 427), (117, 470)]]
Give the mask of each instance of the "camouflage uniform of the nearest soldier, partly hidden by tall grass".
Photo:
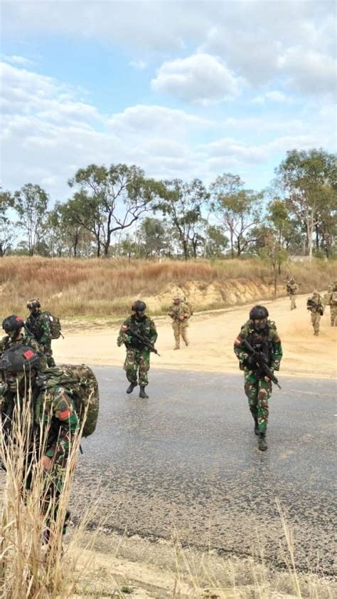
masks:
[[(48, 373), (48, 370), (46, 370)], [(43, 514), (48, 512), (48, 521), (46, 522), (46, 530), (44, 531), (43, 540), (48, 542), (50, 536), (50, 524), (55, 521), (58, 511), (58, 499), (63, 488), (65, 477), (65, 469), (68, 461), (68, 453), (70, 445), (73, 442), (77, 429), (80, 428), (80, 422), (75, 412), (75, 407), (70, 396), (67, 394), (64, 387), (61, 385), (49, 384), (48, 374), (46, 375), (46, 388), (41, 390), (35, 383), (32, 382), (31, 401), (33, 402), (33, 425), (31, 429), (31, 437), (28, 440), (29, 447), (33, 444), (34, 452), (31, 452), (27, 447), (26, 474), (23, 474), (26, 480), (26, 490), (31, 489), (33, 485), (33, 464), (36, 460), (42, 458), (39, 454), (39, 441), (44, 435), (41, 435), (41, 429), (46, 433), (46, 449), (44, 456), (51, 459), (51, 467), (45, 474), (45, 489), (43, 491), (43, 499), (41, 500), (41, 509)], [(11, 417), (14, 412), (14, 400), (17, 401), (16, 393), (7, 390), (0, 396), (1, 402), (1, 421), (6, 429), (7, 439), (11, 442), (10, 429), (8, 424), (11, 422)], [(26, 400), (24, 395), (19, 395), (19, 400)], [(4, 425), (4, 422), (6, 423)], [(15, 441), (15, 440), (14, 440)], [(50, 510), (49, 506), (52, 509)], [(66, 520), (65, 516), (63, 525), (63, 533), (65, 532)]]

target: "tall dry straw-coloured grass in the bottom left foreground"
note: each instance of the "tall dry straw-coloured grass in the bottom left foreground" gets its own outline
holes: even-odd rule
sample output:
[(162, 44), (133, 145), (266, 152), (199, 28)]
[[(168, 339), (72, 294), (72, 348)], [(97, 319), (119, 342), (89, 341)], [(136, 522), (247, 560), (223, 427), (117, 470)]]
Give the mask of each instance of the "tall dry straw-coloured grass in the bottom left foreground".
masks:
[(1, 462), (6, 470), (0, 516), (0, 596), (2, 599), (68, 599), (77, 580), (75, 561), (63, 553), (63, 524), (80, 444), (70, 447), (60, 496), (51, 494), (43, 471), (47, 428), (32, 443), (33, 410), (27, 385), (25, 400), (15, 402), (10, 434), (1, 427)]

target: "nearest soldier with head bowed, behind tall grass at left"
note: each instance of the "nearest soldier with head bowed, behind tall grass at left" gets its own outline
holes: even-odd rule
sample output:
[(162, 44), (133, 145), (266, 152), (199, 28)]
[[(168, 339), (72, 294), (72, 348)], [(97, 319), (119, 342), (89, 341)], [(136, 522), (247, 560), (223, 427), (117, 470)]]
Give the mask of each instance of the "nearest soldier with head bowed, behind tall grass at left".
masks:
[[(47, 369), (41, 373), (40, 358), (30, 345), (15, 345), (5, 350), (0, 358), (4, 442), (9, 456), (16, 451), (17, 445), (18, 451), (23, 451), (23, 496), (27, 490), (41, 489), (41, 513), (45, 516), (44, 543), (50, 540), (50, 533), (56, 532), (65, 468), (80, 427), (73, 401), (62, 385), (53, 382), (53, 374), (48, 375), (49, 372)], [(44, 381), (43, 387), (41, 380)], [(21, 410), (16, 412), (18, 402)], [(28, 415), (33, 415), (33, 422)], [(19, 439), (16, 439), (16, 427), (21, 429)], [(36, 486), (39, 483), (41, 487)], [(63, 505), (58, 518), (63, 532), (68, 516)]]

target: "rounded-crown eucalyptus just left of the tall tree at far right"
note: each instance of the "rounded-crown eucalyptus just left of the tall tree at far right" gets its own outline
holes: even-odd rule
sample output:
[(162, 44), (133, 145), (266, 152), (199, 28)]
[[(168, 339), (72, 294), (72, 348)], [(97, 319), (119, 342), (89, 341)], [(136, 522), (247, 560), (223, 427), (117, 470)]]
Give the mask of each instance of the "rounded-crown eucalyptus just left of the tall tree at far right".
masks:
[(238, 175), (224, 173), (210, 185), (215, 217), (228, 231), (230, 254), (240, 257), (256, 241), (253, 229), (260, 223), (263, 194), (244, 188)]

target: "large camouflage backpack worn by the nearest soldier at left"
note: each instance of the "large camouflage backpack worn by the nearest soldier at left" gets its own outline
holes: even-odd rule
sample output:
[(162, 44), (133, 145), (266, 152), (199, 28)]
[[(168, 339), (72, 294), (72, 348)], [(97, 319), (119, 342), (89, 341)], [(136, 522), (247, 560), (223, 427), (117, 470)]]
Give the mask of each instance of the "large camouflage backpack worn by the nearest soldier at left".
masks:
[(48, 368), (44, 374), (47, 375), (46, 388), (53, 385), (65, 388), (73, 400), (81, 425), (87, 410), (82, 437), (89, 437), (95, 432), (100, 406), (98, 383), (91, 368), (85, 364), (60, 364)]

